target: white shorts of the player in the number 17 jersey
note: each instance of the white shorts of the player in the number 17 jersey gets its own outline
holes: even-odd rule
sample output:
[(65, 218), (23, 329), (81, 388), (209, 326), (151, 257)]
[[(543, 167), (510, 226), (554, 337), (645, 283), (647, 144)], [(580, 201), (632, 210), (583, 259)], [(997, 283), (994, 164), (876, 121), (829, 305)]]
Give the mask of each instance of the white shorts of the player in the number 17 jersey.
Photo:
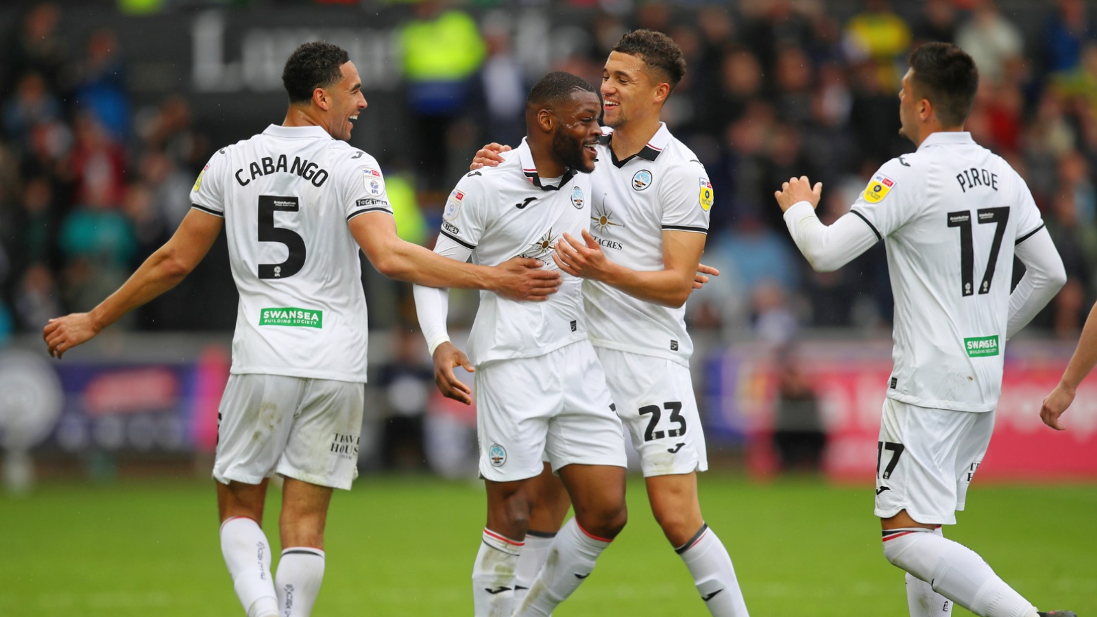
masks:
[(884, 399), (877, 444), (875, 514), (905, 509), (926, 525), (955, 525), (994, 431), (994, 412), (955, 412)]

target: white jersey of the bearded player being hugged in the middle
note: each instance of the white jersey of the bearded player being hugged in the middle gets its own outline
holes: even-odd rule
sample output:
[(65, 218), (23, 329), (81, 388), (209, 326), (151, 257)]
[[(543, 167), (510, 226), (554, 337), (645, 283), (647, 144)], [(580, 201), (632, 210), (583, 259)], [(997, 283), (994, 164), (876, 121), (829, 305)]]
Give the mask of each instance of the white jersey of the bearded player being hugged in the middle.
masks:
[[(472, 250), (475, 263), (498, 266), (533, 257), (557, 270), (552, 254), (565, 233), (581, 238), (590, 221), (590, 175), (568, 170), (543, 184), (525, 139), (506, 162), (472, 171), (450, 193), (442, 235)], [(587, 338), (581, 280), (561, 272), (559, 290), (544, 302), (514, 302), (480, 292), (468, 335), (473, 364), (542, 356)]]

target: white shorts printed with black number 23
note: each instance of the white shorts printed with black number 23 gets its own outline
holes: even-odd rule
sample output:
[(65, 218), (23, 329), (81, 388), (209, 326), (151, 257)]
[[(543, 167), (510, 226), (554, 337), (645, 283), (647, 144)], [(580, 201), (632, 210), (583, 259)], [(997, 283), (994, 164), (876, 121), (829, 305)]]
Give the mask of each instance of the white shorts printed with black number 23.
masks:
[(709, 469), (689, 368), (656, 356), (597, 351), (644, 478)]

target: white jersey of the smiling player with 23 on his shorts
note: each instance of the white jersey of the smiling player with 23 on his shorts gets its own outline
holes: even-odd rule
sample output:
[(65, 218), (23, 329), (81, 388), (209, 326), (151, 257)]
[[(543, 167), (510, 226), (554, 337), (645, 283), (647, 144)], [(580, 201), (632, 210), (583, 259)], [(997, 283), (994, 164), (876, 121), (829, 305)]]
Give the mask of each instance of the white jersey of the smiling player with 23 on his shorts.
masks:
[[(590, 234), (612, 261), (632, 270), (661, 270), (663, 232), (706, 234), (712, 183), (709, 173), (666, 124), (635, 156), (618, 160), (612, 130), (602, 127), (593, 172)], [(678, 308), (637, 300), (588, 280), (584, 301), (596, 347), (658, 356), (689, 366), (693, 341)]]

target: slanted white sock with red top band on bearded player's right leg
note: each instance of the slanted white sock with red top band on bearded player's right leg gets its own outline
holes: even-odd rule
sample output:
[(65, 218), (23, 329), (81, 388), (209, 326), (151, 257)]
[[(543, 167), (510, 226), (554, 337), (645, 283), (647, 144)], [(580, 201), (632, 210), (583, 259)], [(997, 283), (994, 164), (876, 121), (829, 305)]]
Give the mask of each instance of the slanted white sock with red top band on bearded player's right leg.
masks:
[(514, 617), (548, 617), (590, 575), (611, 540), (588, 534), (572, 518), (556, 534), (548, 557)]

